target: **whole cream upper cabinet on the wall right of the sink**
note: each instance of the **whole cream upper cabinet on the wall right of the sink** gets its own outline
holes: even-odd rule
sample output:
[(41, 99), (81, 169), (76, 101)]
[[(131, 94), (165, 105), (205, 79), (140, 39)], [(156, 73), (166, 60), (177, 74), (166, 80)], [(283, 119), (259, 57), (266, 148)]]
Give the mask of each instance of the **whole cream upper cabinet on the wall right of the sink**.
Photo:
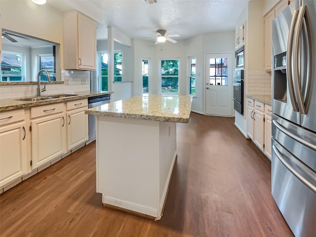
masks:
[(96, 70), (96, 25), (77, 11), (64, 14), (64, 69)]

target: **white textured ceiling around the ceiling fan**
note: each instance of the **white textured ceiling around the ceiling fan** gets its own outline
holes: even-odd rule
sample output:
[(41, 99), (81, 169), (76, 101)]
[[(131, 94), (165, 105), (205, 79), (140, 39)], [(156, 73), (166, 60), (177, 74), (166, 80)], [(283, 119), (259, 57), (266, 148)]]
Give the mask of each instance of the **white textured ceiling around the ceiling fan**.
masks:
[[(84, 9), (102, 14), (98, 40), (107, 39), (107, 26), (132, 39), (156, 36), (156, 30), (165, 29), (166, 34), (179, 34), (176, 40), (185, 40), (203, 33), (235, 30), (236, 19), (249, 0), (157, 0), (154, 4), (144, 0), (47, 0), (47, 3), (61, 11), (73, 8), (82, 11), (82, 6), (76, 4), (83, 1)], [(93, 11), (83, 13), (93, 18)]]

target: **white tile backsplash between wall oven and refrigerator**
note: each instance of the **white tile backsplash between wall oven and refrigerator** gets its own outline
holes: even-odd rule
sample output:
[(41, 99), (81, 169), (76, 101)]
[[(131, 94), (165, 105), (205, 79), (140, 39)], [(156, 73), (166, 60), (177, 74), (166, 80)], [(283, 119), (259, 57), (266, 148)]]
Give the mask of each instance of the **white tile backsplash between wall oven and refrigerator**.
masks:
[(247, 94), (249, 95), (271, 95), (271, 73), (247, 72)]

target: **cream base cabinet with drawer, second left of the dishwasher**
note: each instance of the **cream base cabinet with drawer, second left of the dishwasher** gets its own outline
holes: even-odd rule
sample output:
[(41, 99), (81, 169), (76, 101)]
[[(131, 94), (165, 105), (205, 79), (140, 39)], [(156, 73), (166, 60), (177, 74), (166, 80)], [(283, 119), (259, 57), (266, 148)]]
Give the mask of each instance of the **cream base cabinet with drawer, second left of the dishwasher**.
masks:
[(64, 103), (31, 108), (32, 170), (66, 152)]

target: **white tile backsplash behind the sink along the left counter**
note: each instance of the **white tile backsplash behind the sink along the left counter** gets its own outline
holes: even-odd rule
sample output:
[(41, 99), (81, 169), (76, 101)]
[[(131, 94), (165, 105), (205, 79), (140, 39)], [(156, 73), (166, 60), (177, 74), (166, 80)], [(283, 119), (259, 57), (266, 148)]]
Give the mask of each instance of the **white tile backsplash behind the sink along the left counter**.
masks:
[[(90, 71), (62, 70), (64, 84), (46, 84), (42, 95), (90, 90)], [(38, 85), (0, 85), (0, 99), (36, 96)], [(43, 87), (43, 84), (41, 84)]]

